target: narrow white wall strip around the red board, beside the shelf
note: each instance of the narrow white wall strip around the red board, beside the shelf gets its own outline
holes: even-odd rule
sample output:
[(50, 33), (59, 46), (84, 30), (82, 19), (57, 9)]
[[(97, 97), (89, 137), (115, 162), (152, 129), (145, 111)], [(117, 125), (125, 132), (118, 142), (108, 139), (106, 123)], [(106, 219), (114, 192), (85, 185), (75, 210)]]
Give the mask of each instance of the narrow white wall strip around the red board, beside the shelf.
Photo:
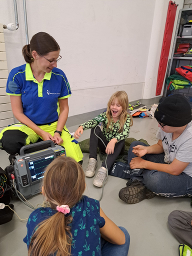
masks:
[[(176, 0), (178, 4), (176, 9), (175, 22), (172, 32), (172, 40), (170, 44), (169, 58), (172, 51), (172, 44), (176, 29), (176, 23), (178, 18), (179, 9), (183, 8), (184, 0)], [(143, 98), (152, 98), (155, 97), (156, 92), (156, 83), (157, 83), (157, 74), (158, 74), (158, 65), (160, 60), (160, 53), (162, 47), (162, 40), (164, 35), (164, 28), (166, 22), (166, 14), (168, 8), (169, 0), (156, 0), (154, 8), (154, 18), (152, 21), (152, 32), (150, 38), (150, 47), (148, 53), (148, 61), (146, 67), (146, 76), (145, 76), (145, 85)], [(161, 95), (163, 93), (164, 82), (161, 90)]]

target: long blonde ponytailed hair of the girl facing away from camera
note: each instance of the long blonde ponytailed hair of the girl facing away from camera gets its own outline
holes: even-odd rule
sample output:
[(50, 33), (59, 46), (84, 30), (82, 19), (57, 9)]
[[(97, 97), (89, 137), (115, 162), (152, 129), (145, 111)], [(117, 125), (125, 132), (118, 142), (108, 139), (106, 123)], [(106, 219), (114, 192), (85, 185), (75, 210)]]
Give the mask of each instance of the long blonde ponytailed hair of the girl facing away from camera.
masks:
[[(81, 165), (70, 157), (57, 157), (46, 168), (43, 188), (52, 209), (56, 210), (56, 206), (62, 204), (71, 208), (80, 200), (85, 188)], [(56, 256), (69, 256), (72, 242), (71, 221), (71, 215), (56, 212), (40, 222), (32, 235), (28, 255), (47, 256), (56, 253)]]

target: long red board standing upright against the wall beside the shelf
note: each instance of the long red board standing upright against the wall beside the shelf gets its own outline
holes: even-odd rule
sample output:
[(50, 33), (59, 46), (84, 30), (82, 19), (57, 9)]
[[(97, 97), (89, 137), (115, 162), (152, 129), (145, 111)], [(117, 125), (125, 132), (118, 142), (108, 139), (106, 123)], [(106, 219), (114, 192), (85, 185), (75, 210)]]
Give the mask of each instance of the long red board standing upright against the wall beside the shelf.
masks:
[(172, 37), (172, 30), (174, 26), (174, 19), (176, 15), (177, 4), (173, 1), (169, 1), (168, 3), (168, 11), (166, 16), (166, 23), (164, 29), (164, 36), (162, 42), (162, 49), (160, 54), (160, 62), (158, 66), (158, 75), (157, 75), (157, 83), (156, 83), (156, 96), (160, 95), (162, 89), (162, 83), (164, 80), (164, 75), (166, 72), (166, 65), (168, 61), (168, 53), (170, 49), (170, 42)]

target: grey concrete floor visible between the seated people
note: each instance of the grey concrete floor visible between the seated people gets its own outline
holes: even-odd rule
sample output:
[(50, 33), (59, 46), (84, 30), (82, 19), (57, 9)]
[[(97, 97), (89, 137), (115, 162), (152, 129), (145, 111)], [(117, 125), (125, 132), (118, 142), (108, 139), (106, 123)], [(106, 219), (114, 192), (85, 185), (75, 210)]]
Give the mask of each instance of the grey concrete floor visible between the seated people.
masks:
[[(69, 131), (75, 131), (78, 125), (68, 127)], [(157, 122), (155, 119), (145, 117), (134, 118), (130, 128), (129, 137), (144, 138), (149, 144), (156, 142), (155, 134)], [(90, 130), (83, 132), (79, 141), (89, 137)], [(85, 169), (88, 154), (84, 153), (82, 167)], [(8, 155), (0, 150), (0, 167), (8, 165)], [(98, 167), (101, 161), (98, 160)], [(93, 177), (86, 177), (85, 194), (99, 199), (101, 188), (92, 184)], [(191, 211), (190, 198), (165, 198), (155, 196), (136, 204), (126, 204), (118, 198), (118, 191), (124, 187), (126, 180), (108, 176), (104, 186), (104, 194), (100, 206), (105, 214), (117, 225), (124, 226), (130, 234), (130, 256), (175, 256), (178, 255), (178, 242), (167, 227), (168, 214), (175, 209)], [(34, 205), (42, 203), (41, 194), (32, 196), (29, 201)], [(14, 210), (21, 218), (26, 218), (31, 210), (21, 201), (11, 201)], [(22, 241), (26, 235), (26, 220), (21, 221), (14, 214), (10, 222), (0, 225), (0, 256), (24, 256), (27, 255), (26, 244)], [(120, 256), (120, 255), (119, 255)]]

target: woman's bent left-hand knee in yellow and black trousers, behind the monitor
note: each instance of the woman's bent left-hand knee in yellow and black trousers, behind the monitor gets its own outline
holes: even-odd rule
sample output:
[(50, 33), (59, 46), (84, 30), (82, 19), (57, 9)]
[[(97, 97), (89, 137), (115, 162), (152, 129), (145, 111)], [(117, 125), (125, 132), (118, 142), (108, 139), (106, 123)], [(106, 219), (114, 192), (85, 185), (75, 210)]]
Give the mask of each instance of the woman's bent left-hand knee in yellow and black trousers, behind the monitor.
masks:
[(0, 149), (9, 154), (19, 153), (22, 146), (35, 143), (38, 135), (25, 124), (14, 123), (0, 132)]

